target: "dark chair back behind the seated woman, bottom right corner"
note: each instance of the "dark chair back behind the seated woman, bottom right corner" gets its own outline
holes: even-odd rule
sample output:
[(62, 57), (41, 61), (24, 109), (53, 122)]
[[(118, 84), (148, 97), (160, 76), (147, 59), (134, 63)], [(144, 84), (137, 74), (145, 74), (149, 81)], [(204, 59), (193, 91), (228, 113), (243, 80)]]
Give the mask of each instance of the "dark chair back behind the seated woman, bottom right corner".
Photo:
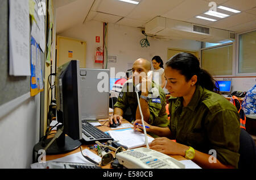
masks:
[(253, 138), (241, 128), (240, 133), (240, 159), (238, 162), (239, 169), (256, 168), (256, 147)]

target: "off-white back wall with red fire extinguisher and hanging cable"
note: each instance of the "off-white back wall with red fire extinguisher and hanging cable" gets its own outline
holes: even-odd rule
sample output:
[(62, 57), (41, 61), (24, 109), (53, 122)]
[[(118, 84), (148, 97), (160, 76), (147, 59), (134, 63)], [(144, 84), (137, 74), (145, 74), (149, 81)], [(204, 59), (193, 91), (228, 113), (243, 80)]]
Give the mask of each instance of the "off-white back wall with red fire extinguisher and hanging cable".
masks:
[[(102, 68), (102, 64), (94, 63), (94, 52), (97, 46), (102, 46), (103, 23), (91, 21), (74, 26), (59, 34), (60, 36), (72, 37), (86, 41), (87, 55), (86, 68)], [(101, 42), (96, 43), (96, 36), (100, 36)], [(108, 56), (117, 56), (116, 63), (109, 63), (108, 69), (115, 68), (115, 73), (126, 72), (127, 63), (134, 62), (138, 58), (146, 58), (151, 61), (153, 56), (162, 57), (166, 62), (168, 48), (180, 48), (199, 51), (201, 43), (193, 40), (159, 40), (148, 37), (150, 47), (142, 48), (139, 42), (145, 36), (140, 28), (121, 26), (117, 24), (108, 25)], [(104, 68), (106, 66), (104, 65)]]

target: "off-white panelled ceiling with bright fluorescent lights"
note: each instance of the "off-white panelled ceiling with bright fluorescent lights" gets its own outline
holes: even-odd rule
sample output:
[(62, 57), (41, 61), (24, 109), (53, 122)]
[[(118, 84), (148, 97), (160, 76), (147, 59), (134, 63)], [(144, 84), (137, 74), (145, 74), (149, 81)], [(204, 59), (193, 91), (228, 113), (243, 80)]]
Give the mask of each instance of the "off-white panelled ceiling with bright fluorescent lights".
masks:
[[(57, 0), (57, 33), (76, 24), (96, 20), (131, 27), (145, 27), (156, 16), (196, 23), (207, 27), (242, 32), (256, 28), (256, 0), (134, 0), (138, 5), (117, 0)], [(217, 22), (195, 18), (210, 9), (209, 2), (240, 10), (226, 13), (228, 18)], [(218, 12), (223, 10), (217, 9)], [(207, 16), (207, 15), (204, 15)], [(208, 18), (213, 18), (207, 16)]]

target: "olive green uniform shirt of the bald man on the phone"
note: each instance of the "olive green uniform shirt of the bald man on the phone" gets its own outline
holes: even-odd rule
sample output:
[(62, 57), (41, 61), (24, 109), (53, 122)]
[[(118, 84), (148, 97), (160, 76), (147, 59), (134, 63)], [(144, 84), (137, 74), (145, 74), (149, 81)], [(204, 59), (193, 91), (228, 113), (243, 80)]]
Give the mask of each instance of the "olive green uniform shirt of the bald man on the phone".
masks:
[[(137, 95), (135, 93), (134, 85), (131, 85), (128, 82), (125, 83), (119, 97), (117, 99), (117, 103), (115, 103), (115, 107), (119, 107), (125, 112), (126, 108), (131, 108), (131, 113), (133, 114), (133, 120), (136, 120), (136, 111), (138, 107), (138, 100)], [(132, 87), (130, 90), (130, 87)], [(159, 88), (160, 96), (158, 98), (152, 98), (148, 102), (148, 108), (150, 110), (150, 119), (148, 119), (148, 124), (155, 125), (158, 127), (167, 127), (169, 124), (168, 117), (166, 114), (166, 94), (164, 93), (163, 89), (156, 85), (153, 81), (152, 88), (157, 87)], [(130, 91), (129, 91), (130, 90)], [(139, 95), (141, 92), (139, 92)]]

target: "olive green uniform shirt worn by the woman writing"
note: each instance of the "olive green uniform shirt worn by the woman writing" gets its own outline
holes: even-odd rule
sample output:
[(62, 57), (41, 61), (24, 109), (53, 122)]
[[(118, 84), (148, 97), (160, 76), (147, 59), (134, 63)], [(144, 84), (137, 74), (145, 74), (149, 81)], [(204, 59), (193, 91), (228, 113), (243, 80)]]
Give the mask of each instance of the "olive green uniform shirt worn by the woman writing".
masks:
[(238, 167), (240, 116), (232, 103), (198, 85), (187, 107), (183, 107), (183, 98), (168, 101), (169, 128), (177, 143), (207, 154), (214, 149), (222, 164)]

